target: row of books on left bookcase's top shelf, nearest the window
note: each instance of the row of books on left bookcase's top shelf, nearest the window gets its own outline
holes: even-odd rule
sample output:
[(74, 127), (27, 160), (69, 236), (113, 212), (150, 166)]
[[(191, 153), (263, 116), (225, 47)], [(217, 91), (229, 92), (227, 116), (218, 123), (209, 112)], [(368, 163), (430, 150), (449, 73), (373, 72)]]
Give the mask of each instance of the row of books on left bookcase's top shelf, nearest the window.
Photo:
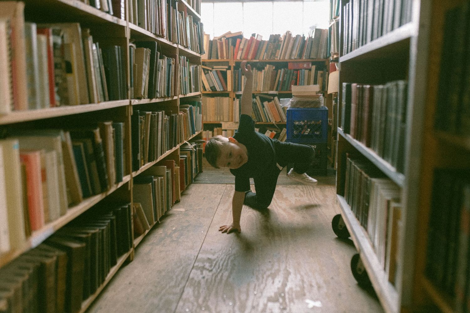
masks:
[(177, 0), (133, 0), (129, 10), (130, 23), (196, 53), (204, 53), (204, 25), (188, 15), (183, 3)]

